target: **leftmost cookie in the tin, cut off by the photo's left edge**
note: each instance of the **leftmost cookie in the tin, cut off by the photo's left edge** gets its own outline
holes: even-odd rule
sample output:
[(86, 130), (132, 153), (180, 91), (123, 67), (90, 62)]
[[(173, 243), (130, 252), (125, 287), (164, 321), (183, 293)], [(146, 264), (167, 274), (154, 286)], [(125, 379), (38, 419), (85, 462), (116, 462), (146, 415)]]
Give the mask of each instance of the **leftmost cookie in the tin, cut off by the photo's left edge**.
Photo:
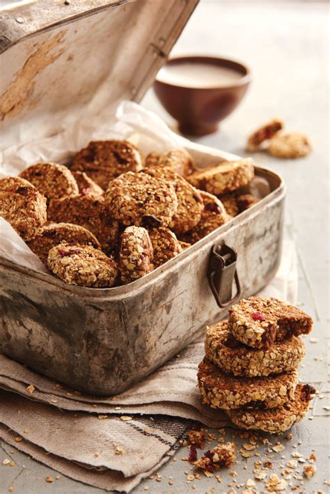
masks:
[(24, 240), (30, 240), (47, 221), (46, 199), (24, 178), (1, 178), (0, 216)]

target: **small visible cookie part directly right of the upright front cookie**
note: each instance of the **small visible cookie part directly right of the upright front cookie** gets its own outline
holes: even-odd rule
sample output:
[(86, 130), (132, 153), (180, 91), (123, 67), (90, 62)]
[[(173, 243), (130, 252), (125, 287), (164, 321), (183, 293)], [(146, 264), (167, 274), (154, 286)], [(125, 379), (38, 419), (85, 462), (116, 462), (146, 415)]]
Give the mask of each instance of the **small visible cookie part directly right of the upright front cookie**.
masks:
[(182, 247), (178, 238), (173, 231), (168, 228), (149, 229), (149, 236), (154, 252), (153, 264), (155, 268), (166, 263), (172, 257), (177, 256), (182, 252)]

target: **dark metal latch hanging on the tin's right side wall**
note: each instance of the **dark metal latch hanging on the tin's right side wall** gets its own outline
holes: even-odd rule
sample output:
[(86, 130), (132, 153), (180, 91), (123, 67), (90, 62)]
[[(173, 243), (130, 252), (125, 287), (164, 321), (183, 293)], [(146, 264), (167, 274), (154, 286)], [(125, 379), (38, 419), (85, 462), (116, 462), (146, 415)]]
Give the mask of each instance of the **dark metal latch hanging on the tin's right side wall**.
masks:
[[(208, 279), (212, 293), (221, 309), (233, 304), (241, 294), (241, 287), (236, 270), (237, 252), (224, 242), (212, 247)], [(235, 279), (236, 293), (233, 294)]]

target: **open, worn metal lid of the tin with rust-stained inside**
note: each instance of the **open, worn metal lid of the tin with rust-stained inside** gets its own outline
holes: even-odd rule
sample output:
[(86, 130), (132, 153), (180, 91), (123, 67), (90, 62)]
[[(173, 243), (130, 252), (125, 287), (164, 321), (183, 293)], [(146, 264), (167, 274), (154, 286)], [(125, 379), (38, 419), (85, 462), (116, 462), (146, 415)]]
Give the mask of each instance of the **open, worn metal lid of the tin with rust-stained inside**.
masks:
[(139, 101), (198, 0), (25, 0), (0, 9), (0, 148)]

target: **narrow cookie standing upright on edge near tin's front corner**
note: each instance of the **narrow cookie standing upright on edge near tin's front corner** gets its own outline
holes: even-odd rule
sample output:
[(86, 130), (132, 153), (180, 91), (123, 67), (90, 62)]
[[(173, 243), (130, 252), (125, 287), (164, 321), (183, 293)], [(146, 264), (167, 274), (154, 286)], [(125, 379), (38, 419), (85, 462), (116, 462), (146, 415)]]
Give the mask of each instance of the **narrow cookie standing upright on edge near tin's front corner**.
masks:
[(120, 239), (119, 268), (123, 284), (131, 283), (154, 269), (153, 249), (148, 231), (128, 226)]

